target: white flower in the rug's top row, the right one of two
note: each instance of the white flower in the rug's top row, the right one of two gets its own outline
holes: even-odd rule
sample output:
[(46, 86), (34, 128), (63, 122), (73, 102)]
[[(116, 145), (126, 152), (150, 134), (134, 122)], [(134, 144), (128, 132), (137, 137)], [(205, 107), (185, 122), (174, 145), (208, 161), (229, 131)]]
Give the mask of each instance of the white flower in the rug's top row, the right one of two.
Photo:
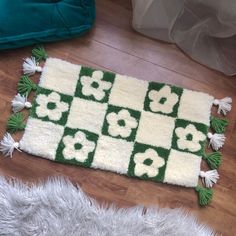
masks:
[(178, 95), (171, 92), (171, 87), (165, 85), (159, 91), (151, 90), (148, 94), (150, 109), (153, 112), (162, 112), (169, 114), (173, 112), (175, 104), (178, 102)]

